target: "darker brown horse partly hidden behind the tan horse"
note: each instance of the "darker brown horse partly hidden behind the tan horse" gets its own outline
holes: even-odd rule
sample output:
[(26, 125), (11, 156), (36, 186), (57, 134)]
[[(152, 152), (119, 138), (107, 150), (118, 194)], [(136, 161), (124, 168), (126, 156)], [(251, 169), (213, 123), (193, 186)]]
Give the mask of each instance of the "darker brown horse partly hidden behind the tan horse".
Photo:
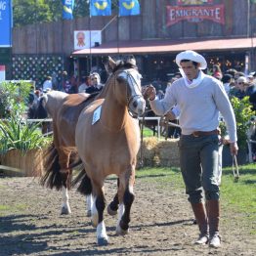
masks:
[[(45, 154), (45, 175), (41, 185), (62, 190), (61, 214), (69, 214), (68, 190), (71, 186), (72, 169), (69, 165), (77, 158), (75, 148), (75, 126), (81, 110), (90, 104), (96, 95), (66, 94), (51, 91), (44, 96), (44, 107), (53, 118), (54, 140)], [(87, 196), (90, 204), (90, 196)], [(90, 210), (87, 215), (90, 216)]]

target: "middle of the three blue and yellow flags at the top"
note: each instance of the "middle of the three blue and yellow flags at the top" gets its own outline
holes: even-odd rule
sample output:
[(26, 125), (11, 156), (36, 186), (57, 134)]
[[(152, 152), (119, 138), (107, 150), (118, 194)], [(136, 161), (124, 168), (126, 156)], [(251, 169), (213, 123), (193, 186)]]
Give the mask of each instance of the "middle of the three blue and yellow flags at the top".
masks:
[(90, 16), (110, 16), (111, 0), (91, 0)]

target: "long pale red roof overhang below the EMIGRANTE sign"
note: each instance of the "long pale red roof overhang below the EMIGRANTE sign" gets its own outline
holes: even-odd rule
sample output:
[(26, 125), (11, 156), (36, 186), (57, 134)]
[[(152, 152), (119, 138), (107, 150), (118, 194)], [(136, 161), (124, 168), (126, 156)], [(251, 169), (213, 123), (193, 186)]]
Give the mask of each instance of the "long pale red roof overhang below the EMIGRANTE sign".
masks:
[(185, 50), (193, 51), (234, 51), (249, 50), (256, 46), (256, 37), (229, 38), (229, 39), (202, 39), (202, 40), (142, 40), (108, 42), (72, 53), (73, 57), (87, 55), (111, 55), (111, 54), (156, 54), (177, 53)]

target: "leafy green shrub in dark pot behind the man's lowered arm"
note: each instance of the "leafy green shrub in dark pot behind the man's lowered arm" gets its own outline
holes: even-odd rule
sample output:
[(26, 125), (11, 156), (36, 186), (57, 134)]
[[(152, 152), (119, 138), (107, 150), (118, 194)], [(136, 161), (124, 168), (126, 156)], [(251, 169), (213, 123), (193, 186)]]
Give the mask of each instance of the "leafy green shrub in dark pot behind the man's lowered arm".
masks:
[[(232, 97), (231, 104), (234, 108), (236, 121), (238, 145), (237, 162), (238, 164), (244, 164), (248, 161), (248, 130), (252, 124), (252, 118), (255, 115), (255, 111), (252, 110), (248, 96), (244, 97), (242, 100)], [(220, 122), (220, 128), (222, 135), (225, 136), (226, 126), (224, 122)], [(232, 156), (230, 154), (229, 145), (225, 145), (223, 149), (223, 166), (230, 165), (232, 165)]]

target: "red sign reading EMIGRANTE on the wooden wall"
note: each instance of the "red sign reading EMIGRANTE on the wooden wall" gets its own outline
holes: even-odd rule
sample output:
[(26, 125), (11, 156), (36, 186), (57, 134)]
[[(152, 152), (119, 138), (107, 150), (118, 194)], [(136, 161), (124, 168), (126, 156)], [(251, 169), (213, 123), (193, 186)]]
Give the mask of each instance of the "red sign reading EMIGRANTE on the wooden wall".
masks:
[(218, 23), (225, 23), (224, 5), (214, 6), (166, 6), (166, 25), (173, 25), (179, 21), (200, 22), (210, 20)]

